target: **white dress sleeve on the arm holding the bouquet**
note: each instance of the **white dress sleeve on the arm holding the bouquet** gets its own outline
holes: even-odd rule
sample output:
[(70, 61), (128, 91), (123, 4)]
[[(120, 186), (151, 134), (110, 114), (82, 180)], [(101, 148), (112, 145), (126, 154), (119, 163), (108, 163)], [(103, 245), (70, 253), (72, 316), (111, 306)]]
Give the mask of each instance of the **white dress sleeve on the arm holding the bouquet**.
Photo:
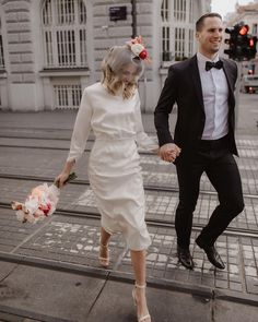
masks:
[(90, 102), (89, 93), (86, 88), (83, 92), (81, 104), (79, 107), (79, 111), (77, 115), (71, 144), (70, 152), (67, 158), (67, 162), (78, 160), (86, 145), (86, 141), (89, 134), (91, 132), (91, 119), (92, 119), (92, 105)]

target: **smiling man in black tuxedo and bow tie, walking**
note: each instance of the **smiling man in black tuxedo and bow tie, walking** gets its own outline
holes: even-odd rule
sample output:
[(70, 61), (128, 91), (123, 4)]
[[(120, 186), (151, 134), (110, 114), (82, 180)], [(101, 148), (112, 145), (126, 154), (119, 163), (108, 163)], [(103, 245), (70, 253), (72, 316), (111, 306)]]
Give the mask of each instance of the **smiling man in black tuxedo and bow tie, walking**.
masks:
[[(176, 210), (177, 255), (187, 269), (194, 269), (189, 251), (192, 214), (203, 172), (218, 192), (219, 205), (196, 239), (208, 260), (225, 269), (215, 249), (218, 237), (244, 208), (234, 138), (237, 67), (220, 59), (223, 24), (218, 13), (202, 15), (196, 23), (199, 50), (192, 58), (171, 65), (155, 109), (160, 155), (176, 165), (179, 203)], [(177, 104), (174, 138), (168, 115)]]

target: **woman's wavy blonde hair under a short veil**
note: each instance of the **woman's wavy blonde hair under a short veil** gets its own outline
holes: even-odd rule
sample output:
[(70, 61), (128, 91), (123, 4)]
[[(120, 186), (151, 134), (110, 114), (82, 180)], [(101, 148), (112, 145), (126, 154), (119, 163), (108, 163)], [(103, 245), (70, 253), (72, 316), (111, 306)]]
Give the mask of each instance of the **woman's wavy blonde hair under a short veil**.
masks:
[[(122, 67), (130, 63), (137, 67), (137, 74), (134, 80), (125, 86), (120, 73)], [(138, 79), (143, 72), (143, 63), (140, 58), (134, 57), (129, 46), (114, 46), (102, 61), (102, 72), (101, 82), (109, 94), (117, 95), (122, 91), (122, 97), (130, 98), (134, 94)]]

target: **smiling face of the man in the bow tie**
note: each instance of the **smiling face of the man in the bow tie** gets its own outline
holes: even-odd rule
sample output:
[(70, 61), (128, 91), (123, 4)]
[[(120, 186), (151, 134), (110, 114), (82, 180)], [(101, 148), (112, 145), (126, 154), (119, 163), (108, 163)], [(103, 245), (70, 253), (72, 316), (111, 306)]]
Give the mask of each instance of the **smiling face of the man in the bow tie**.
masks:
[(196, 33), (200, 52), (208, 57), (216, 53), (221, 47), (222, 34), (222, 21), (216, 16), (206, 17), (201, 31)]

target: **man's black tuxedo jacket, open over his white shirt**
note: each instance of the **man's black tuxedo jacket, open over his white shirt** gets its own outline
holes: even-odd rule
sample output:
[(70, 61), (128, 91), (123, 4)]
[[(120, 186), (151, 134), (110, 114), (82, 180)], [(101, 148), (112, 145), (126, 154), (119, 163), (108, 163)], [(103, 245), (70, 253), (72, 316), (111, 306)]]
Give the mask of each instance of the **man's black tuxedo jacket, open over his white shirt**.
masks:
[[(238, 155), (234, 136), (234, 90), (237, 79), (237, 65), (232, 60), (222, 60), (228, 86), (228, 148), (232, 154)], [(177, 121), (173, 138), (169, 132), (168, 116), (175, 103), (177, 104)], [(155, 108), (154, 121), (160, 146), (166, 143), (177, 144), (181, 148), (178, 159), (189, 157), (189, 154), (197, 148), (206, 122), (197, 55), (169, 67), (167, 79)]]

